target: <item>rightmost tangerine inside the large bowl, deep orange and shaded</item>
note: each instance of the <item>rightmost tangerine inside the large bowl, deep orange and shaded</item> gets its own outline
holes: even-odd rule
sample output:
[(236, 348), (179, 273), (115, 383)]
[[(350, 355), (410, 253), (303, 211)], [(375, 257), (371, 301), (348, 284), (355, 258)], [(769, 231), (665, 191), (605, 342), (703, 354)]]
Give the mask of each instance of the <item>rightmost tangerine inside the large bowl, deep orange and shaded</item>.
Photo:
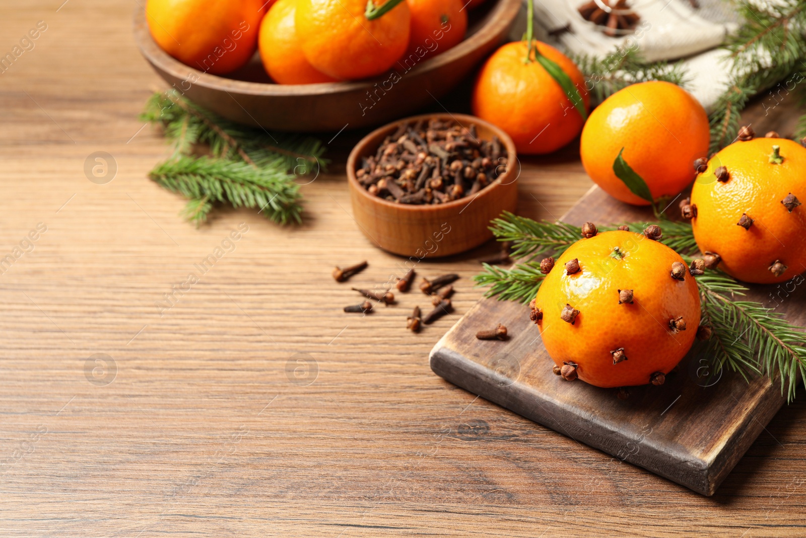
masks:
[(441, 54), (464, 39), (467, 11), (463, 10), (463, 0), (406, 0), (406, 3), (411, 12), (407, 56)]

